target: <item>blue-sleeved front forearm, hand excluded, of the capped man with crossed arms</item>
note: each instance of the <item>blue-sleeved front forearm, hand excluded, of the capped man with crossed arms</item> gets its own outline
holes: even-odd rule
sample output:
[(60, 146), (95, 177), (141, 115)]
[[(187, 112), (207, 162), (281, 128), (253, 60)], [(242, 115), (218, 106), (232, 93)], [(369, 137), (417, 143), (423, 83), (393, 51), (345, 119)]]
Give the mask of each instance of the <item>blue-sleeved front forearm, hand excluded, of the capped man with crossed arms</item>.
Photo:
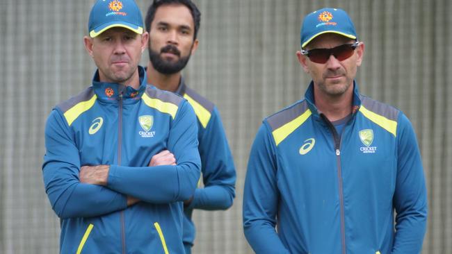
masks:
[(195, 191), (199, 178), (197, 164), (177, 166), (122, 167), (112, 165), (107, 187), (148, 203), (184, 201)]

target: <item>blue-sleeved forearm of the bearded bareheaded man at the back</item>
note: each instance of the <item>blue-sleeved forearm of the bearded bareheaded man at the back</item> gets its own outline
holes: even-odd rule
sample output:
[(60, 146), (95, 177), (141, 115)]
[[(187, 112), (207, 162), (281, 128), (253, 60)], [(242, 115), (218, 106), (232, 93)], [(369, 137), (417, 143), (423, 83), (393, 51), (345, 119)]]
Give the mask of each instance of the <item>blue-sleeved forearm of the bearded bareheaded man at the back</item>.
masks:
[(234, 187), (213, 185), (195, 190), (188, 208), (202, 210), (226, 210), (234, 201)]

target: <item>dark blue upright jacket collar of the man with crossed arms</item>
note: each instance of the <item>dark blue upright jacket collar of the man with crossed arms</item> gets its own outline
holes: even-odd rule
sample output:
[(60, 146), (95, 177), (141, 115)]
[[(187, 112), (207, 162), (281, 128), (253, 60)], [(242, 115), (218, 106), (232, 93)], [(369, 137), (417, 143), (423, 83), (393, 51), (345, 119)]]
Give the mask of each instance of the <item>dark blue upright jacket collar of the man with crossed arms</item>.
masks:
[(118, 83), (106, 83), (99, 81), (99, 69), (96, 70), (92, 78), (92, 87), (95, 90), (97, 98), (101, 101), (117, 101), (122, 94), (122, 99), (138, 100), (143, 96), (146, 90), (145, 69), (138, 65), (138, 76), (140, 77), (140, 87), (138, 90), (133, 87), (121, 85)]

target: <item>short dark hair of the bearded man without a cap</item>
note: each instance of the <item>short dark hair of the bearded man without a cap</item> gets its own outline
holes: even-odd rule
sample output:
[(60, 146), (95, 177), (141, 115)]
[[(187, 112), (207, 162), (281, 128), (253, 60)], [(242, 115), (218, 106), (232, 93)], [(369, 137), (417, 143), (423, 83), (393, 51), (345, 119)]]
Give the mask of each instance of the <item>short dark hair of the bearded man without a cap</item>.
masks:
[(193, 24), (195, 24), (195, 34), (193, 35), (193, 40), (196, 39), (197, 31), (200, 29), (201, 12), (197, 9), (195, 3), (193, 3), (191, 0), (154, 0), (147, 9), (145, 18), (146, 31), (149, 33), (149, 31), (151, 30), (151, 23), (152, 21), (154, 21), (157, 8), (166, 4), (182, 4), (186, 6), (188, 10), (190, 10), (191, 17), (193, 17)]

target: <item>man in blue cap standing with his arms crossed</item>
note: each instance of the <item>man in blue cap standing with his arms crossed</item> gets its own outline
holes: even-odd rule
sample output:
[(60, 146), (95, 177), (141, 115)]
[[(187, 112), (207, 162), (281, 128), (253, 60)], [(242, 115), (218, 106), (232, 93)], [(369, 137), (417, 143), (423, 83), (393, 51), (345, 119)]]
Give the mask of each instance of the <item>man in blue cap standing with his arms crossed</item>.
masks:
[(147, 85), (148, 33), (133, 0), (92, 7), (92, 85), (52, 110), (45, 189), (60, 217), (60, 253), (184, 253), (182, 217), (200, 178), (186, 99)]

